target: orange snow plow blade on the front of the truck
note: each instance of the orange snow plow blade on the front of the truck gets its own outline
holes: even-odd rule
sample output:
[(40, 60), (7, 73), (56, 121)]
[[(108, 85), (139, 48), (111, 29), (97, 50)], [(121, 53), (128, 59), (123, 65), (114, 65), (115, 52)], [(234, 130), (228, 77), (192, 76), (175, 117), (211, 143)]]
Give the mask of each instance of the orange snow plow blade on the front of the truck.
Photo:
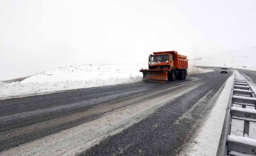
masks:
[(141, 69), (143, 81), (167, 83), (168, 75), (166, 71), (159, 69)]

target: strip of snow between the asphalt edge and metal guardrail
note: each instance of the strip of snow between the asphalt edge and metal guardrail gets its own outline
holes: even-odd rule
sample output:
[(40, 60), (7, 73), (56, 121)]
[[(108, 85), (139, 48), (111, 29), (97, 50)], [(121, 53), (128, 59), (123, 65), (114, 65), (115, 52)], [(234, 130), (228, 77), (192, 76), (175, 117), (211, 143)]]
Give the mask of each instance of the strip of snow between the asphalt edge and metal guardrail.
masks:
[[(226, 107), (235, 78), (235, 72), (226, 81), (224, 88), (219, 94), (211, 113), (206, 118), (204, 125), (195, 134), (195, 139), (182, 149), (180, 156), (215, 156), (219, 138), (222, 132)], [(233, 123), (232, 123), (233, 125)]]

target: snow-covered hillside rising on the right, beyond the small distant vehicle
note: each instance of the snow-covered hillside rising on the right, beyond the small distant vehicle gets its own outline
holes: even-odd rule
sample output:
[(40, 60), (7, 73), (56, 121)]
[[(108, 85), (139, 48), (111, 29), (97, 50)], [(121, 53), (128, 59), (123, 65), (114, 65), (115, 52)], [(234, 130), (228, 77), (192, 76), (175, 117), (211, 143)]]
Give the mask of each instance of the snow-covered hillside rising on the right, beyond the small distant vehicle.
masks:
[(212, 56), (190, 59), (189, 62), (193, 66), (226, 66), (232, 68), (243, 68), (256, 71), (256, 47), (216, 52)]

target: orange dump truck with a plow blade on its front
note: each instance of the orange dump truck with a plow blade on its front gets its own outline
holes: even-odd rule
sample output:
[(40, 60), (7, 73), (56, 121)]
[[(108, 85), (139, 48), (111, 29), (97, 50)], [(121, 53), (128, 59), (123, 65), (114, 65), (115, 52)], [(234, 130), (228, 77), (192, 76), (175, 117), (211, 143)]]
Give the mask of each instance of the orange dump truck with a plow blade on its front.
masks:
[(148, 68), (141, 69), (143, 81), (166, 83), (187, 77), (187, 56), (177, 51), (153, 52), (149, 55)]

